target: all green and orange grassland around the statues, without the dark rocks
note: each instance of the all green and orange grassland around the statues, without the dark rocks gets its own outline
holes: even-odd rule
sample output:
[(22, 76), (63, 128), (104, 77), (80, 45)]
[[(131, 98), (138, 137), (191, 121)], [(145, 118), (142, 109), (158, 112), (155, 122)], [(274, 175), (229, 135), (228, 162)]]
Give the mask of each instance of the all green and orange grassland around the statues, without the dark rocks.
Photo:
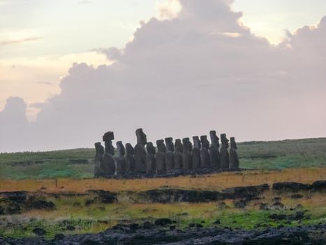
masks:
[[(46, 231), (45, 237), (52, 239), (58, 233), (73, 235), (101, 232), (117, 223), (153, 223), (156, 218), (170, 218), (177, 222), (179, 229), (188, 228), (193, 223), (212, 227), (216, 221), (223, 228), (248, 230), (326, 223), (325, 193), (302, 191), (297, 193), (302, 194), (302, 198), (295, 200), (290, 196), (291, 193), (267, 190), (260, 196), (260, 200), (251, 200), (244, 208), (236, 207), (235, 200), (160, 204), (147, 200), (134, 201), (129, 197), (129, 191), (155, 188), (223, 190), (263, 183), (272, 186), (273, 183), (284, 181), (311, 184), (326, 179), (326, 139), (246, 142), (238, 144), (238, 147), (241, 167), (255, 170), (129, 180), (92, 179), (94, 149), (2, 153), (0, 192), (26, 190), (50, 193), (46, 201), (53, 202), (55, 209), (28, 209), (21, 214), (2, 215), (0, 236), (35, 237), (33, 230), (42, 228)], [(61, 195), (82, 194), (87, 190), (109, 190), (118, 193), (118, 200), (110, 204), (87, 204), (89, 196)], [(274, 197), (281, 197), (283, 208), (272, 207)], [(260, 209), (262, 203), (271, 208)], [(3, 206), (4, 208), (6, 207)], [(297, 211), (302, 211), (304, 217), (299, 220), (285, 218), (281, 221), (270, 218), (271, 214), (292, 217)]]

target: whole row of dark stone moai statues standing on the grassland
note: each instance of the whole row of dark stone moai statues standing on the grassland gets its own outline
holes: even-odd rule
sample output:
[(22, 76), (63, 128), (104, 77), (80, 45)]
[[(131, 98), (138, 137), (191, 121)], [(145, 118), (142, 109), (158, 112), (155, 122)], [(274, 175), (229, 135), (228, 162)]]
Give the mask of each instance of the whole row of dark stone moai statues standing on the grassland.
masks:
[[(136, 130), (137, 144), (135, 148), (127, 143), (126, 148), (121, 141), (117, 141), (117, 154), (114, 155), (113, 132), (103, 135), (105, 148), (101, 142), (95, 144), (95, 177), (113, 176), (114, 174), (167, 174), (180, 169), (238, 169), (239, 158), (235, 138), (230, 138), (231, 148), (228, 151), (229, 140), (226, 134), (221, 134), (221, 143), (214, 130), (209, 132), (212, 144), (207, 136), (193, 137), (193, 144), (189, 138), (172, 138), (156, 141), (156, 148), (147, 142), (146, 134), (142, 129)], [(146, 148), (145, 148), (146, 146)]]

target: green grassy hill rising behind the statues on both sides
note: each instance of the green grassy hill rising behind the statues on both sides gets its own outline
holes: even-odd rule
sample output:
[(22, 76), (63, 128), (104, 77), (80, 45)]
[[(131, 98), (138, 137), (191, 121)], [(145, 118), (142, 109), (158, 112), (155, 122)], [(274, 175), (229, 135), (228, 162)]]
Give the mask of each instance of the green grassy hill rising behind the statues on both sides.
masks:
[[(326, 138), (238, 144), (242, 168), (326, 167)], [(1, 153), (0, 179), (91, 178), (94, 148)]]

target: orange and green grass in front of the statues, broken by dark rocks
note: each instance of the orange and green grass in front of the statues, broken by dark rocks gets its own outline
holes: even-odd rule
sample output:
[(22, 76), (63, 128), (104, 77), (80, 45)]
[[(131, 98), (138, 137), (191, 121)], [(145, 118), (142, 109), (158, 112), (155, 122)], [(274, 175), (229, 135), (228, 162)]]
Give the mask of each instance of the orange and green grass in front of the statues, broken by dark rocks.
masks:
[[(234, 200), (202, 203), (152, 203), (147, 200), (131, 201), (128, 190), (150, 190), (154, 188), (222, 190), (235, 186), (252, 186), (278, 181), (297, 181), (313, 183), (326, 179), (326, 168), (283, 169), (281, 171), (246, 171), (234, 173), (212, 174), (208, 176), (180, 176), (170, 179), (140, 179), (140, 180), (108, 180), (108, 179), (58, 179), (47, 180), (1, 180), (1, 191), (29, 190), (45, 193), (84, 193), (90, 189), (103, 189), (119, 193), (117, 202), (103, 204), (95, 202), (87, 204), (89, 197), (83, 195), (60, 196), (50, 195), (47, 201), (55, 204), (54, 210), (31, 209), (22, 214), (2, 216), (0, 236), (34, 237), (34, 228), (46, 230), (46, 237), (52, 238), (57, 233), (64, 235), (101, 232), (117, 223), (154, 222), (156, 218), (170, 218), (176, 221), (177, 228), (184, 229), (195, 223), (211, 227), (215, 221), (218, 226), (227, 228), (254, 229), (265, 227), (316, 225), (326, 223), (325, 193), (299, 192), (302, 198), (294, 200), (291, 193), (279, 193), (267, 190), (260, 200), (251, 200), (246, 207), (235, 207)], [(284, 207), (281, 209), (260, 209), (260, 204), (272, 205), (274, 197), (280, 197)], [(301, 207), (297, 208), (300, 204)], [(299, 220), (283, 219), (275, 221), (269, 218), (271, 214), (293, 216), (297, 211), (304, 212), (304, 218)], [(71, 229), (73, 227), (73, 229)]]

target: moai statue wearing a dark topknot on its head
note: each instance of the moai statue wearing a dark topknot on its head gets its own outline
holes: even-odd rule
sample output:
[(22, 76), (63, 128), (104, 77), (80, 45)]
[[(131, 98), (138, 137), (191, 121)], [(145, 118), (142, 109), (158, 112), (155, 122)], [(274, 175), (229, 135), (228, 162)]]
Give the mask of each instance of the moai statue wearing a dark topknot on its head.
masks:
[(114, 139), (113, 132), (106, 132), (103, 135), (103, 141), (105, 144), (105, 154), (103, 156), (103, 174), (105, 176), (115, 174), (115, 160), (113, 158), (114, 155), (114, 147), (112, 146), (112, 140)]

